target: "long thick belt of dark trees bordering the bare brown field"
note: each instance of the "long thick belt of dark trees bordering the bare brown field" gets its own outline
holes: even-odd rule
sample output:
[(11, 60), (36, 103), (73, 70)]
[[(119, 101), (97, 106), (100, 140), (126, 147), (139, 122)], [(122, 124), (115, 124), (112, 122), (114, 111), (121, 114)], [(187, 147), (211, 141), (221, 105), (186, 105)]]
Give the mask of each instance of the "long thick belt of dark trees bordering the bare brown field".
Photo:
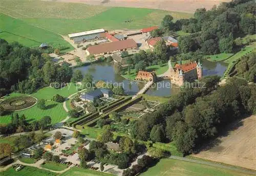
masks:
[(132, 137), (142, 141), (174, 141), (178, 150), (187, 154), (218, 135), (225, 125), (256, 113), (254, 84), (230, 78), (225, 85), (218, 86), (219, 79), (205, 77), (201, 81), (204, 88), (187, 87), (172, 96), (158, 111), (134, 123)]

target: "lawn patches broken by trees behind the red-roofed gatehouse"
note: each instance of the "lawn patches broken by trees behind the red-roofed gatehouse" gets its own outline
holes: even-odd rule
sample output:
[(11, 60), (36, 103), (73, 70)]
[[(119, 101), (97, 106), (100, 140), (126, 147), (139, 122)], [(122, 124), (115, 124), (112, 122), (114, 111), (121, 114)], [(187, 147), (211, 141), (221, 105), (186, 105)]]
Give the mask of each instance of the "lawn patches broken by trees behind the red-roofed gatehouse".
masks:
[[(146, 71), (151, 72), (151, 71), (155, 71), (157, 75), (161, 75), (163, 73), (165, 73), (168, 70), (168, 64), (165, 63), (162, 65), (162, 67), (160, 67), (160, 65), (151, 65), (146, 67)], [(134, 80), (137, 76), (135, 69), (131, 69), (131, 74), (128, 75), (127, 71), (126, 74), (122, 75), (124, 78), (126, 79), (130, 79), (130, 80)]]

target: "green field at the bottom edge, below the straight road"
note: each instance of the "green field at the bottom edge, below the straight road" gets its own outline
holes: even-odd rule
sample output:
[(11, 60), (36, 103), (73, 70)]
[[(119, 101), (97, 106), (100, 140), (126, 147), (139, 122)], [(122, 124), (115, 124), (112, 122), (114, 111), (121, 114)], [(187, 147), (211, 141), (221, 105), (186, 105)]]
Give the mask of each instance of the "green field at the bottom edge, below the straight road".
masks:
[(245, 176), (239, 171), (233, 171), (204, 164), (191, 163), (174, 159), (162, 159), (156, 166), (149, 168), (141, 176)]

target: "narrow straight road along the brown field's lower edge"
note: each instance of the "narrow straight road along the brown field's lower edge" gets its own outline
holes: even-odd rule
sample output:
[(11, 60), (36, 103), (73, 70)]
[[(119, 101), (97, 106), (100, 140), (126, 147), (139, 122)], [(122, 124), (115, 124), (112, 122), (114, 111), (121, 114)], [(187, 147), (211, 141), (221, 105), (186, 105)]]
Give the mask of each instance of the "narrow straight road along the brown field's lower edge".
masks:
[(212, 162), (207, 162), (207, 161), (188, 159), (188, 158), (182, 158), (182, 157), (177, 157), (177, 156), (171, 156), (169, 158), (175, 159), (175, 160), (188, 161), (188, 162), (192, 162), (192, 163), (205, 164), (205, 165), (209, 165), (209, 166), (220, 167), (220, 168), (224, 168), (224, 169), (230, 169), (230, 170), (234, 170), (234, 171), (240, 171), (243, 173), (249, 173), (249, 174), (256, 175), (256, 171), (237, 168), (235, 166), (227, 166), (227, 165), (222, 165), (222, 164), (217, 164), (217, 163), (212, 163)]

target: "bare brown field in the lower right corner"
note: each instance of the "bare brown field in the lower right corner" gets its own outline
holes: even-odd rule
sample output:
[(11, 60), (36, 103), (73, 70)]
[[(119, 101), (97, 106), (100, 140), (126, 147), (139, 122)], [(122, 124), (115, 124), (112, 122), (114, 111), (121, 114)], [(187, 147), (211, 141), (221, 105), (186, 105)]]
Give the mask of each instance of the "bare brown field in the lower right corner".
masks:
[(229, 126), (228, 134), (219, 137), (217, 144), (194, 157), (256, 169), (256, 116), (252, 115)]

